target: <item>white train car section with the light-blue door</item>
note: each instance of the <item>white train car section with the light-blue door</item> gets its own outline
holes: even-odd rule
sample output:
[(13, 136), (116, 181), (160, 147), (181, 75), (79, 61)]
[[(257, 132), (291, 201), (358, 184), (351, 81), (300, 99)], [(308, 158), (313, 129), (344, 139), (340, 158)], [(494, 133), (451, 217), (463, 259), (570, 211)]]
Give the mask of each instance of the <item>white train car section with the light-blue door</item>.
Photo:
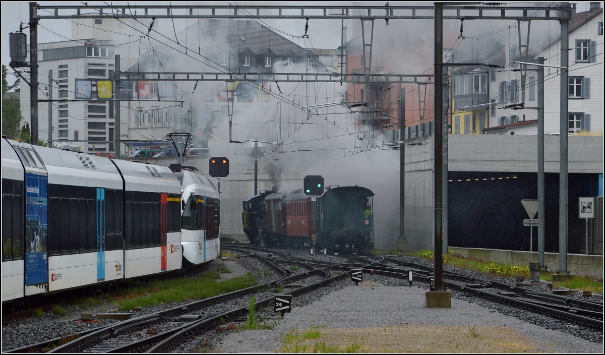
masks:
[(48, 171), (48, 291), (122, 279), (120, 172), (111, 160), (34, 146)]

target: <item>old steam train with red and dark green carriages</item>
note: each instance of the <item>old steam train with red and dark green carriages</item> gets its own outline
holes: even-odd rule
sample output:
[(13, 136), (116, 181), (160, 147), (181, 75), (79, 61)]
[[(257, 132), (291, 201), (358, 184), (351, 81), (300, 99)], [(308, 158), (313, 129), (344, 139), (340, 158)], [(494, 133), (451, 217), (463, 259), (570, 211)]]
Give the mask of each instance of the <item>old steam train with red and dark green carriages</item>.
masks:
[(264, 191), (243, 201), (244, 233), (257, 246), (361, 250), (373, 244), (373, 196), (361, 186), (329, 187), (317, 197)]

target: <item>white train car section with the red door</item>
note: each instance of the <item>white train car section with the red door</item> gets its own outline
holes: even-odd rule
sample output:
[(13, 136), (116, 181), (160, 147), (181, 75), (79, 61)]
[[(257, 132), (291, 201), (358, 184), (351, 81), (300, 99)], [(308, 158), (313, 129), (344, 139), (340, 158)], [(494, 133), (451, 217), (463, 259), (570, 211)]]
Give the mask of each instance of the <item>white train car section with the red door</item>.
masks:
[(125, 278), (181, 268), (181, 184), (165, 166), (112, 160), (124, 181)]

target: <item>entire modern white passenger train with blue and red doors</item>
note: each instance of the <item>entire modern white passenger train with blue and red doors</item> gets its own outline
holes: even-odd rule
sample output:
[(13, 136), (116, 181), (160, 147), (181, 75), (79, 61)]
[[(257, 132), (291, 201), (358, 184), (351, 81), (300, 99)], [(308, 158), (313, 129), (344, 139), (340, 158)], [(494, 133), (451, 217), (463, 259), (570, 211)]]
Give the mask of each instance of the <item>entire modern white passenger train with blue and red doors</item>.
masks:
[(2, 302), (212, 261), (219, 209), (195, 168), (2, 138)]

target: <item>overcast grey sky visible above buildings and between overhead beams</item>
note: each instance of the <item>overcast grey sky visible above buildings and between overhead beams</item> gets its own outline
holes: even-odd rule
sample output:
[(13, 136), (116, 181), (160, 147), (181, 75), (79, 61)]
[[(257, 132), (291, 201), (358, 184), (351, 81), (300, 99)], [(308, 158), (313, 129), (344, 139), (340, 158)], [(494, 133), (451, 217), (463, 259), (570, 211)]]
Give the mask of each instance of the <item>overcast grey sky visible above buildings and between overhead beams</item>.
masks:
[[(122, 2), (123, 4), (124, 2)], [(275, 2), (276, 3), (276, 2)], [(74, 2), (39, 2), (41, 5), (74, 5)], [(79, 2), (78, 4), (82, 4)], [(103, 2), (90, 2), (90, 4), (103, 4)], [(117, 2), (115, 4), (120, 4)], [(144, 4), (144, 2), (134, 2), (131, 4)], [(150, 3), (151, 4), (151, 3)], [(159, 3), (154, 2), (154, 5)], [(198, 2), (172, 2), (172, 4), (199, 4)], [(218, 4), (218, 3), (217, 3)], [(221, 3), (221, 4), (227, 4)], [(238, 4), (252, 4), (250, 2), (239, 2)], [(258, 3), (255, 3), (258, 4)], [(264, 4), (270, 4), (270, 2), (266, 2)], [(276, 3), (277, 4), (277, 3)], [(279, 4), (282, 4), (281, 2)], [(304, 2), (291, 2), (290, 4), (304, 4)], [(311, 4), (311, 3), (309, 3)], [(315, 4), (315, 3), (313, 3)], [(325, 4), (325, 3), (324, 3)], [(381, 2), (382, 4), (382, 2)], [(396, 4), (396, 3), (391, 3)], [(427, 2), (427, 4), (431, 4), (431, 2)], [(509, 3), (510, 4), (510, 3)], [(525, 4), (528, 4), (525, 2)], [(577, 2), (577, 11), (586, 11), (589, 7), (589, 2)], [(8, 66), (8, 62), (10, 62), (10, 55), (8, 50), (8, 33), (15, 32), (19, 30), (19, 24), (21, 22), (28, 22), (29, 20), (29, 4), (28, 2), (11, 2), (11, 1), (2, 1), (2, 64)], [(301, 36), (304, 34), (304, 20), (263, 20), (271, 27), (274, 27), (278, 30), (284, 31), (286, 33), (292, 34), (293, 36)], [(38, 43), (47, 43), (47, 42), (58, 42), (58, 41), (66, 41), (64, 37), (71, 37), (71, 22), (65, 19), (59, 20), (44, 20), (41, 21), (41, 25), (48, 28), (39, 27), (38, 31)], [(314, 20), (311, 21), (309, 25), (309, 39), (315, 48), (336, 48), (340, 45), (340, 34), (339, 28), (341, 26), (340, 21), (335, 20)], [(175, 22), (176, 30), (181, 30), (185, 28), (185, 21), (177, 21)], [(56, 34), (51, 33), (53, 31)], [(25, 30), (25, 33), (28, 36), (29, 41), (29, 31)], [(63, 36), (63, 37), (62, 37)], [(350, 32), (349, 32), (350, 36)], [(11, 70), (9, 70), (11, 72)], [(14, 79), (8, 77), (8, 81), (12, 82)]]

